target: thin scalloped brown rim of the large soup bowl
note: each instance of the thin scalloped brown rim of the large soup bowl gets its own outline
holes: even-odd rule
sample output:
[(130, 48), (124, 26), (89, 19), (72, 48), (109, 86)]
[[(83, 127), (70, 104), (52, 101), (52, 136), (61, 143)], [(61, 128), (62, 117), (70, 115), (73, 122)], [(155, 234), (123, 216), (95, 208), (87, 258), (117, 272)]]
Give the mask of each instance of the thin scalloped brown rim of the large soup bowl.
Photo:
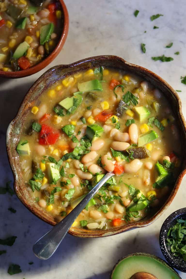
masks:
[[(127, 61), (125, 61), (124, 59), (118, 57), (118, 56), (112, 56), (112, 55), (105, 55), (105, 56), (95, 56), (95, 57), (89, 57), (86, 59), (82, 59), (80, 61), (74, 62), (72, 64), (67, 64), (67, 65), (58, 65), (58, 66), (54, 66), (52, 68), (50, 68), (49, 70), (47, 70), (42, 76), (40, 76), (40, 78), (38, 78), (38, 80), (31, 86), (30, 90), (27, 92), (27, 94), (25, 95), (20, 108), (18, 110), (18, 113), (16, 115), (16, 117), (10, 122), (8, 129), (7, 129), (7, 135), (6, 135), (6, 146), (7, 146), (7, 153), (8, 153), (8, 159), (9, 159), (9, 163), (14, 175), (14, 190), (16, 195), (18, 196), (18, 198), (20, 199), (20, 201), (34, 214), (36, 215), (38, 218), (40, 218), (41, 220), (49, 223), (50, 225), (55, 225), (56, 222), (54, 221), (54, 218), (51, 218), (51, 215), (47, 214), (47, 217), (42, 215), (42, 212), (45, 212), (44, 210), (42, 210), (40, 208), (40, 211), (35, 211), (32, 208), (32, 205), (30, 205), (28, 203), (28, 201), (25, 201), (24, 197), (21, 195), (20, 191), (19, 191), (19, 181), (18, 181), (18, 175), (16, 172), (16, 169), (14, 167), (13, 164), (13, 157), (11, 154), (11, 145), (12, 145), (12, 141), (11, 141), (11, 137), (9, 136), (9, 134), (11, 133), (11, 128), (13, 125), (15, 125), (16, 121), (19, 121), (19, 116), (21, 115), (21, 107), (24, 106), (26, 98), (28, 98), (29, 95), (31, 95), (31, 89), (35, 86), (38, 85), (44, 75), (50, 71), (54, 71), (56, 68), (62, 68), (62, 69), (66, 69), (66, 68), (75, 68), (78, 65), (84, 64), (85, 62), (93, 62), (93, 61), (104, 61), (104, 60), (112, 60), (112, 61), (120, 61), (124, 64), (126, 64), (127, 66), (129, 66), (130, 68), (133, 69), (140, 69), (140, 71), (144, 72), (146, 75), (150, 74), (151, 76), (153, 76), (154, 78), (156, 78), (157, 80), (160, 81), (160, 83), (162, 83), (163, 85), (165, 85), (165, 87), (171, 92), (171, 94), (175, 97), (175, 99), (177, 100), (177, 104), (178, 104), (178, 114), (180, 117), (180, 121), (182, 123), (183, 126), (183, 130), (184, 133), (186, 134), (186, 122), (185, 119), (183, 117), (182, 114), (182, 103), (180, 100), (180, 97), (178, 96), (177, 92), (165, 81), (163, 80), (160, 76), (158, 76), (157, 74), (153, 73), (152, 71), (143, 68), (141, 66), (135, 65), (135, 64), (131, 64)], [(101, 63), (101, 62), (100, 62)], [(92, 68), (91, 64), (89, 67), (87, 68)], [(74, 69), (74, 73), (77, 70)], [(185, 168), (182, 170), (182, 172), (180, 173), (180, 175), (178, 176), (177, 182), (175, 183), (175, 186), (170, 194), (170, 196), (168, 197), (168, 199), (166, 200), (165, 204), (160, 208), (160, 210), (158, 210), (151, 218), (149, 218), (148, 220), (144, 220), (141, 222), (135, 222), (135, 223), (128, 223), (124, 226), (121, 227), (114, 227), (111, 229), (107, 229), (107, 230), (85, 230), (85, 229), (79, 229), (76, 227), (71, 227), (71, 229), (69, 230), (69, 233), (71, 235), (77, 236), (77, 237), (84, 237), (84, 238), (96, 238), (96, 237), (105, 237), (105, 236), (109, 236), (109, 235), (115, 235), (115, 234), (119, 234), (121, 232), (127, 231), (127, 230), (131, 230), (131, 229), (135, 229), (135, 228), (140, 228), (140, 227), (146, 227), (148, 225), (150, 225), (151, 223), (153, 223), (155, 220), (157, 220), (162, 214), (163, 212), (168, 208), (168, 206), (170, 205), (170, 203), (173, 201), (173, 198), (175, 197), (178, 188), (180, 186), (180, 183), (184, 177), (186, 173), (186, 166)], [(30, 203), (32, 202), (32, 199), (30, 199)], [(46, 212), (45, 212), (46, 213)]]

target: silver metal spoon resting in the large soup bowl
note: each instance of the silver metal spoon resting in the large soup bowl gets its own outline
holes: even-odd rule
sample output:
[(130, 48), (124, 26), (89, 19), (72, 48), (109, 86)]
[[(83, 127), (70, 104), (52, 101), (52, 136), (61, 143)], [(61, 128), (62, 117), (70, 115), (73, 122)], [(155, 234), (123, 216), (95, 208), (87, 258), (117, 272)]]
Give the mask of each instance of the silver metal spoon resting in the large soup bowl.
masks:
[(63, 220), (37, 240), (33, 245), (33, 252), (38, 258), (46, 260), (54, 254), (83, 208), (87, 205), (90, 199), (93, 198), (100, 187), (113, 175), (113, 172), (108, 172)]

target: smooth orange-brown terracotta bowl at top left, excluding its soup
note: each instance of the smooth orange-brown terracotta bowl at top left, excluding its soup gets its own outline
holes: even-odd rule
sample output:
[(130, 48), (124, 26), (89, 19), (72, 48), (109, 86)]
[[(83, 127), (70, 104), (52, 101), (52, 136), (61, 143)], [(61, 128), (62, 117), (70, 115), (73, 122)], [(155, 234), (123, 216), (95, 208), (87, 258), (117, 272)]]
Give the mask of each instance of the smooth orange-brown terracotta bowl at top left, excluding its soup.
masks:
[(54, 58), (59, 54), (61, 51), (66, 38), (68, 34), (68, 28), (69, 28), (69, 15), (67, 11), (67, 7), (64, 3), (63, 0), (59, 0), (61, 3), (61, 9), (62, 9), (62, 20), (63, 20), (63, 30), (61, 33), (61, 37), (58, 41), (58, 44), (56, 45), (55, 49), (48, 55), (44, 60), (42, 60), (40, 63), (36, 64), (35, 66), (27, 69), (27, 70), (22, 70), (18, 72), (4, 72), (0, 71), (0, 77), (3, 78), (24, 78), (25, 76), (30, 76), (32, 74), (35, 74), (39, 72), (40, 70), (44, 69), (48, 64), (50, 64)]

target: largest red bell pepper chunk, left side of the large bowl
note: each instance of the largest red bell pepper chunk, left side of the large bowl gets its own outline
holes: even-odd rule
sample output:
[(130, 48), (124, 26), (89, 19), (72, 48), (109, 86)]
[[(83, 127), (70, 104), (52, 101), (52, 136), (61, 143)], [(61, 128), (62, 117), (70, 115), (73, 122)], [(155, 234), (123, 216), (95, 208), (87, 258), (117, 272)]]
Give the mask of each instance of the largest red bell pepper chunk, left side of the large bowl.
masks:
[(39, 137), (39, 144), (41, 145), (55, 144), (59, 138), (59, 133), (57, 133), (52, 127), (43, 124)]

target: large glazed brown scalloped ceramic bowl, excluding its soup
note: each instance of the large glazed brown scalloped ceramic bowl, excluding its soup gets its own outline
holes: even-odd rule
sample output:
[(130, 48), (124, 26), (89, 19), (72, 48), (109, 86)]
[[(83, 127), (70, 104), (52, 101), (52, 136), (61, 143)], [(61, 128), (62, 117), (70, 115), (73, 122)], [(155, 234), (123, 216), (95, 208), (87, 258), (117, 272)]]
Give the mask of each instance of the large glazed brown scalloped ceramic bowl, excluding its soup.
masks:
[[(175, 90), (160, 78), (158, 75), (153, 72), (142, 68), (140, 66), (131, 64), (126, 62), (124, 59), (117, 56), (96, 56), (90, 57), (87, 59), (83, 59), (81, 61), (75, 62), (69, 65), (58, 65), (46, 71), (38, 80), (32, 85), (28, 93), (26, 94), (23, 102), (20, 106), (17, 116), (13, 121), (9, 124), (7, 130), (7, 151), (9, 162), (14, 174), (14, 189), (16, 195), (21, 200), (21, 202), (37, 217), (42, 219), (43, 221), (55, 225), (56, 222), (52, 216), (50, 216), (47, 212), (42, 210), (29, 196), (29, 193), (26, 189), (25, 183), (23, 181), (23, 177), (21, 174), (19, 157), (16, 152), (16, 146), (19, 141), (19, 136), (21, 130), (23, 128), (23, 124), (25, 122), (25, 118), (30, 111), (30, 108), (33, 106), (35, 100), (55, 81), (64, 78), (66, 75), (74, 74), (78, 71), (87, 70), (92, 67), (103, 66), (106, 68), (115, 68), (119, 70), (124, 70), (130, 73), (137, 74), (141, 77), (142, 80), (149, 81), (155, 88), (160, 89), (163, 94), (167, 97), (170, 102), (170, 105), (175, 112), (175, 116), (177, 119), (178, 129), (180, 133), (180, 144), (182, 145), (183, 150), (186, 149), (186, 123), (185, 119), (182, 115), (182, 105), (178, 94)], [(184, 155), (184, 152), (182, 152)], [(175, 197), (182, 178), (186, 172), (186, 157), (183, 156), (181, 163), (180, 175), (175, 183), (175, 186), (166, 199), (166, 202), (161, 205), (161, 208), (156, 209), (156, 211), (152, 211), (151, 215), (142, 219), (140, 222), (125, 224), (121, 227), (114, 227), (106, 230), (85, 230), (76, 227), (71, 227), (69, 233), (78, 237), (103, 237), (113, 234), (118, 234), (120, 232), (124, 232), (129, 229), (134, 229), (137, 227), (145, 227), (153, 223), (161, 214), (166, 210), (166, 208), (170, 205), (171, 201)]]

